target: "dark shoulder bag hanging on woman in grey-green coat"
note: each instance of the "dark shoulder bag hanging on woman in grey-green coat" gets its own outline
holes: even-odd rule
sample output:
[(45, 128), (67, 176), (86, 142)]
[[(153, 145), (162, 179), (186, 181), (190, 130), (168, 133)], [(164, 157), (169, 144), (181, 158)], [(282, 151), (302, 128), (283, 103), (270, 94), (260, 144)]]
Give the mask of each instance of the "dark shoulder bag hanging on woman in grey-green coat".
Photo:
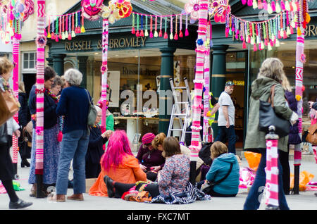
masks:
[(290, 134), (290, 121), (278, 116), (274, 111), (274, 89), (271, 87), (271, 97), (268, 102), (260, 100), (259, 130), (268, 133), (268, 127), (275, 126), (275, 133), (279, 137), (285, 137)]

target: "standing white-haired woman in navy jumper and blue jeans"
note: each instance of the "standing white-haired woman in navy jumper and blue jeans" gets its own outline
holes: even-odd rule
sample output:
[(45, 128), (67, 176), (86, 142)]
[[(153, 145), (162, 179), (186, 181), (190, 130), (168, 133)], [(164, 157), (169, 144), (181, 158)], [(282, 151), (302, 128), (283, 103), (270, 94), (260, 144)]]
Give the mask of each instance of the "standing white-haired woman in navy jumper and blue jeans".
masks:
[(87, 117), (92, 100), (87, 89), (80, 87), (82, 73), (70, 68), (65, 73), (67, 88), (61, 92), (56, 108), (57, 116), (63, 116), (63, 140), (58, 161), (56, 201), (66, 201), (70, 161), (73, 159), (74, 194), (67, 199), (82, 201), (86, 192), (85, 156), (89, 142)]

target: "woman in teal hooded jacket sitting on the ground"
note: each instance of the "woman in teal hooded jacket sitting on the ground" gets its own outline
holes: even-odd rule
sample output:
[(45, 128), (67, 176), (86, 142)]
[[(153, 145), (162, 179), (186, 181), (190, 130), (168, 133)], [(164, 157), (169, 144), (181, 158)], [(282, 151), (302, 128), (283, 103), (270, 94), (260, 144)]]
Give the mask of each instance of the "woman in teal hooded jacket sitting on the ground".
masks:
[[(211, 158), (213, 163), (206, 174), (206, 180), (217, 182), (227, 175), (232, 163), (232, 170), (225, 180), (215, 185), (207, 194), (213, 197), (235, 197), (239, 191), (240, 167), (235, 154), (228, 153), (228, 147), (222, 142), (214, 142), (211, 145)], [(204, 181), (198, 183), (200, 187)]]

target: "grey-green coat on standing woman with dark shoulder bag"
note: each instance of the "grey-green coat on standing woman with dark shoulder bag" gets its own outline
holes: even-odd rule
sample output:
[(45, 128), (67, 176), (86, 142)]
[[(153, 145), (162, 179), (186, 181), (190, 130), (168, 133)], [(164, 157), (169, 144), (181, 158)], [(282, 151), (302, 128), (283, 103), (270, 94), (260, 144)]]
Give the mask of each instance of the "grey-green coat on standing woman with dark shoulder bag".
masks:
[[(249, 106), (249, 120), (247, 124), (247, 136), (244, 142), (244, 149), (266, 149), (265, 132), (259, 131), (260, 99), (268, 101), (271, 94), (271, 87), (275, 85), (274, 111), (286, 120), (290, 120), (292, 110), (287, 106), (284, 97), (284, 89), (279, 82), (268, 78), (259, 77), (251, 85), (251, 97)], [(287, 151), (288, 135), (278, 139), (278, 149)]]

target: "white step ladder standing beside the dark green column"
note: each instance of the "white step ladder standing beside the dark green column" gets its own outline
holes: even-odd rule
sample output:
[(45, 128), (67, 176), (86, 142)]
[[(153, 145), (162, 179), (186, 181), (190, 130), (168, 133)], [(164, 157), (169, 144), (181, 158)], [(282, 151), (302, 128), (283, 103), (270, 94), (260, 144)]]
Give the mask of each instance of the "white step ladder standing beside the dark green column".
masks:
[[(180, 131), (182, 133), (180, 137), (180, 142), (183, 142), (185, 144), (186, 133), (191, 133), (191, 132), (186, 132), (187, 126), (188, 126), (188, 120), (190, 116), (190, 111), (191, 111), (191, 100), (190, 100), (190, 90), (189, 90), (188, 80), (186, 77), (184, 78), (184, 82), (185, 82), (185, 87), (174, 87), (173, 78), (170, 78), (170, 87), (173, 92), (174, 104), (172, 108), (172, 114), (170, 115), (170, 124), (168, 126), (167, 137), (171, 136), (172, 131)], [(175, 92), (176, 89), (186, 89), (187, 101), (178, 101), (178, 94), (176, 94)], [(185, 113), (182, 113), (180, 106), (185, 107)], [(175, 118), (178, 118), (180, 122), (180, 128), (173, 127)]]

